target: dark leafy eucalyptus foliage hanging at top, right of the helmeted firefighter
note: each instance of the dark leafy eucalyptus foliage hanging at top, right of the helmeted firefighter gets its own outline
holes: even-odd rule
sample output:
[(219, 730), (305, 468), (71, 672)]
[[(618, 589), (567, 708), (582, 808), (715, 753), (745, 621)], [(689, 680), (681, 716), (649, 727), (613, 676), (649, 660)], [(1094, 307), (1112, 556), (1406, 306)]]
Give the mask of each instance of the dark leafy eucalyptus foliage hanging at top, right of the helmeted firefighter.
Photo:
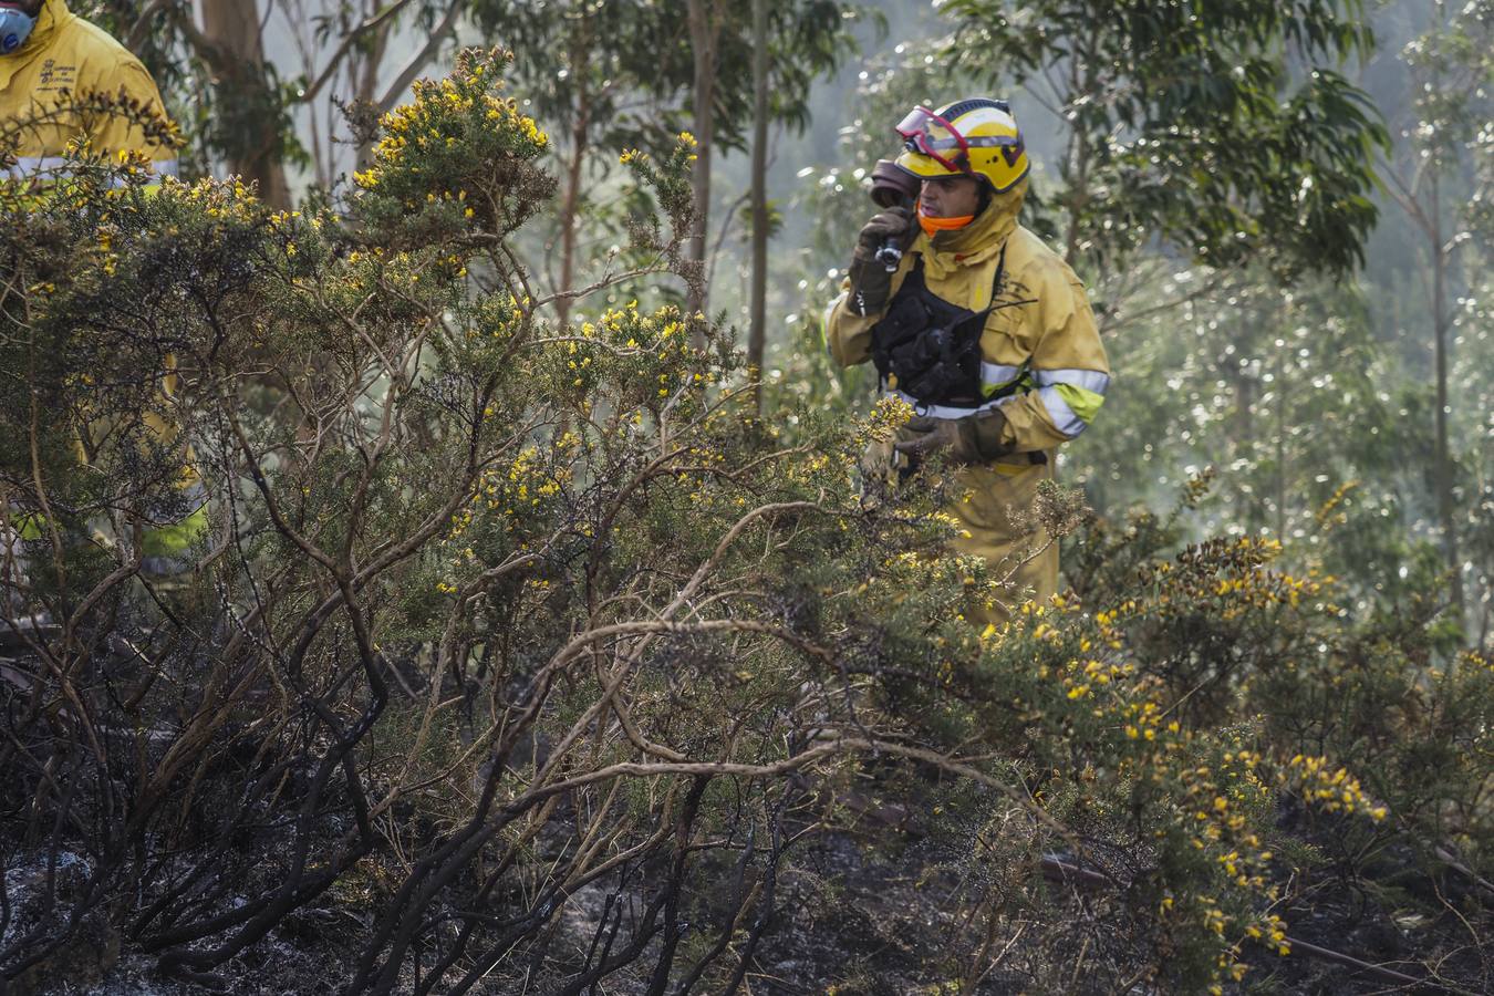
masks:
[(1343, 273), (1374, 225), (1385, 130), (1339, 66), (1361, 0), (950, 0), (947, 54), (1064, 128), (1047, 197), (1095, 273), (1158, 242), (1212, 267)]

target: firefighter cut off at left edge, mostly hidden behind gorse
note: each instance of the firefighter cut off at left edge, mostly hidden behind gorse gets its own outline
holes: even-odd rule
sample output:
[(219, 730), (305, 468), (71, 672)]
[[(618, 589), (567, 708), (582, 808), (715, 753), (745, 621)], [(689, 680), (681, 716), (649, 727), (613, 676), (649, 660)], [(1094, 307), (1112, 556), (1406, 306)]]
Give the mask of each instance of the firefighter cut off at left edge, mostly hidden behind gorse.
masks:
[[(79, 109), (97, 94), (123, 97), (134, 113)], [(66, 0), (0, 0), (0, 134), (10, 139), (7, 152), (13, 181), (46, 184), (63, 178), (66, 152), (87, 140), (94, 154), (130, 151), (151, 160), (157, 176), (176, 173), (176, 149), (146, 134), (143, 118), (166, 121), (160, 91), (134, 55), (99, 27), (67, 9)], [(3, 176), (3, 173), (0, 173)], [(175, 375), (164, 378), (167, 393)], [(151, 417), (163, 438), (173, 426)], [(194, 472), (187, 467), (182, 487), (200, 497)], [(142, 553), (145, 567), (179, 560), (206, 526), (205, 506), (176, 523), (148, 523)], [(34, 524), (33, 524), (34, 530)], [(22, 530), (25, 535), (27, 530)]]

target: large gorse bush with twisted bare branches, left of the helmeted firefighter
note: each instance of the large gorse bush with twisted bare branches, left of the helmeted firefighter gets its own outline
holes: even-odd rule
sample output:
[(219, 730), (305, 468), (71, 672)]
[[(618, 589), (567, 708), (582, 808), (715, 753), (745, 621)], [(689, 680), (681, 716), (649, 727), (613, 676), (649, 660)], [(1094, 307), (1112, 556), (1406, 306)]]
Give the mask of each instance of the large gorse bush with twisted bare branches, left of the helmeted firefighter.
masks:
[[(804, 735), (849, 572), (946, 527), (862, 509), (853, 426), (787, 445), (747, 418), (702, 317), (545, 324), (505, 240), (551, 188), (545, 139), (500, 67), (423, 85), (341, 206), (82, 158), (13, 191), (6, 517), (54, 542), (7, 570), (36, 662), (7, 685), (7, 826), (88, 877), (7, 935), (12, 977), (87, 915), (205, 972), (330, 894), (371, 903), (341, 983), (490, 987), (577, 893), (645, 888), (593, 924), (601, 960), (541, 963), (580, 989), (651, 944), (668, 978), (698, 856), (784, 818), (783, 779), (753, 785), (875, 744)], [(692, 148), (627, 155), (675, 212), (638, 220), (654, 269)], [(188, 511), (188, 464), (212, 530), (163, 579), (142, 533)]]

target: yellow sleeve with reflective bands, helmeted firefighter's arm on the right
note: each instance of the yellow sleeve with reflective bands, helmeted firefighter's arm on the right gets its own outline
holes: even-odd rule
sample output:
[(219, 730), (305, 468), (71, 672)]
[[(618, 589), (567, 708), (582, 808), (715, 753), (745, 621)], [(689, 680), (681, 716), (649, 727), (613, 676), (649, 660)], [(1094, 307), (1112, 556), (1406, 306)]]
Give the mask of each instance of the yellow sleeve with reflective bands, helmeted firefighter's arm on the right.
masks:
[(1062, 264), (1049, 270), (1037, 299), (1038, 337), (1026, 370), (1031, 388), (1001, 406), (1007, 452), (1052, 449), (1076, 439), (1095, 420), (1110, 387), (1110, 361), (1073, 270)]

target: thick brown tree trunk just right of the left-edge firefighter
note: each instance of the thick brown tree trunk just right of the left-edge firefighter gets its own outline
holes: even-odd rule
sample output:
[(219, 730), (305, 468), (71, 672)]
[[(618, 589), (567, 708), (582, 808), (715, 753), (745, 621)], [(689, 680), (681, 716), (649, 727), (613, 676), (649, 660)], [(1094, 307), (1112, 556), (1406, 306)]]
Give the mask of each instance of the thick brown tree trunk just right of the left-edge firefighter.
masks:
[[(202, 31), (218, 58), (212, 69), (224, 94), (264, 90), (264, 39), (260, 36), (257, 1), (202, 0)], [(257, 134), (242, 136), (239, 152), (230, 157), (230, 173), (258, 187), (270, 208), (290, 208), (285, 164), (273, 154), (275, 122), (264, 121)]]

